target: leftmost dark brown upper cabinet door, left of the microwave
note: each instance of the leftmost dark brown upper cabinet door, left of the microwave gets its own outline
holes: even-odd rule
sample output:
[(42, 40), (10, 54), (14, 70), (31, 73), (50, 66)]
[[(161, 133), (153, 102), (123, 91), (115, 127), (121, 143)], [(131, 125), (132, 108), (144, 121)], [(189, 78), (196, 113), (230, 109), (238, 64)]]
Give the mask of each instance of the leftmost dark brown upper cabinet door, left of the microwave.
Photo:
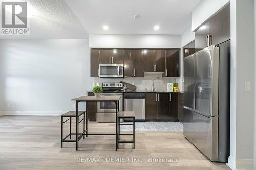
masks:
[(91, 77), (99, 76), (100, 50), (91, 49)]

